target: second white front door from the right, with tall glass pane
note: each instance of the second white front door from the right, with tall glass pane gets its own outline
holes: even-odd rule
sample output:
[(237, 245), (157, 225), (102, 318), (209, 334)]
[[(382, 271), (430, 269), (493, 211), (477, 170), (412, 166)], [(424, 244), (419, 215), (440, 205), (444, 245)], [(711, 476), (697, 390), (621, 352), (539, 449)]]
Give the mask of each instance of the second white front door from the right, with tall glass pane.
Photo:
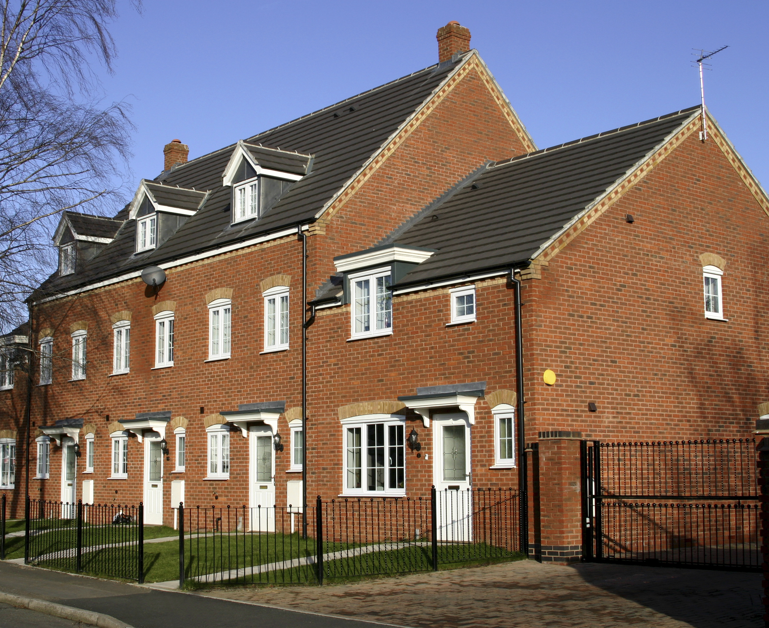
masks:
[(275, 531), (275, 449), (272, 428), (252, 425), (250, 434), (251, 457), (251, 530)]

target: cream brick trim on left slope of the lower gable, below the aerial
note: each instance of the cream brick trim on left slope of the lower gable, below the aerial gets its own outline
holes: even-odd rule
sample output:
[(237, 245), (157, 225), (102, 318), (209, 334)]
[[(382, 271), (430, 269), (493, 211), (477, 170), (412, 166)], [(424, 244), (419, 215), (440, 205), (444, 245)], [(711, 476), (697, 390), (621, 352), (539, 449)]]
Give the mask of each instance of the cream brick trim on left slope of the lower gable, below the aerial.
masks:
[(693, 118), (689, 124), (687, 124), (681, 131), (678, 131), (676, 135), (670, 138), (661, 148), (647, 158), (644, 163), (638, 166), (622, 181), (620, 181), (614, 188), (604, 192), (598, 201), (591, 207), (588, 207), (579, 214), (577, 220), (568, 226), (564, 231), (558, 234), (558, 237), (554, 241), (549, 241), (549, 244), (541, 249), (541, 253), (536, 255), (536, 261), (550, 261), (558, 252), (566, 247), (569, 242), (574, 240), (579, 234), (587, 229), (593, 221), (600, 218), (608, 208), (611, 208), (614, 203), (619, 201), (631, 188), (640, 183), (647, 174), (649, 174), (658, 164), (660, 164), (667, 155), (670, 155), (679, 145), (681, 145), (692, 133), (699, 131), (700, 118)]

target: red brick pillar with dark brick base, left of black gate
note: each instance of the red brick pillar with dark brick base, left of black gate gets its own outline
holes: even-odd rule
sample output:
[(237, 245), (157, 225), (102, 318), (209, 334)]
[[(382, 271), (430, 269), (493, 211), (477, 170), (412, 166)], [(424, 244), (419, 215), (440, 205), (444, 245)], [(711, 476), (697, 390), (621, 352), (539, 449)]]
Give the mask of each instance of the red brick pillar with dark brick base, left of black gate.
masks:
[(568, 565), (582, 557), (579, 432), (540, 432), (538, 442), (538, 557)]

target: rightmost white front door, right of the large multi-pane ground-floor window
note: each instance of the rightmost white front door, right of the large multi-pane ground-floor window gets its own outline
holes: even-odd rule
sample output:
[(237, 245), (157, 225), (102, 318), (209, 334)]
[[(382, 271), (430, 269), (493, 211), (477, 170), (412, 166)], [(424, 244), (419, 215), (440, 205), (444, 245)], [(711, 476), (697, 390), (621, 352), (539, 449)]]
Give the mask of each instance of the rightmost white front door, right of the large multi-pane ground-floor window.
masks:
[(433, 483), (438, 498), (438, 540), (472, 540), (470, 421), (464, 412), (433, 415)]

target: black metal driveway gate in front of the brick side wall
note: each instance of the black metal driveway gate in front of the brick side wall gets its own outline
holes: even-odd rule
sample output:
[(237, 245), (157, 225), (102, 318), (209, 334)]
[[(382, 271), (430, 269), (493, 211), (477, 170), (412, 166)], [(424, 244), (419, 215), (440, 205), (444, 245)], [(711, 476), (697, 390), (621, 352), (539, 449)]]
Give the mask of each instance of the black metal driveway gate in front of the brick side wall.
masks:
[(753, 439), (581, 443), (583, 560), (761, 571)]

